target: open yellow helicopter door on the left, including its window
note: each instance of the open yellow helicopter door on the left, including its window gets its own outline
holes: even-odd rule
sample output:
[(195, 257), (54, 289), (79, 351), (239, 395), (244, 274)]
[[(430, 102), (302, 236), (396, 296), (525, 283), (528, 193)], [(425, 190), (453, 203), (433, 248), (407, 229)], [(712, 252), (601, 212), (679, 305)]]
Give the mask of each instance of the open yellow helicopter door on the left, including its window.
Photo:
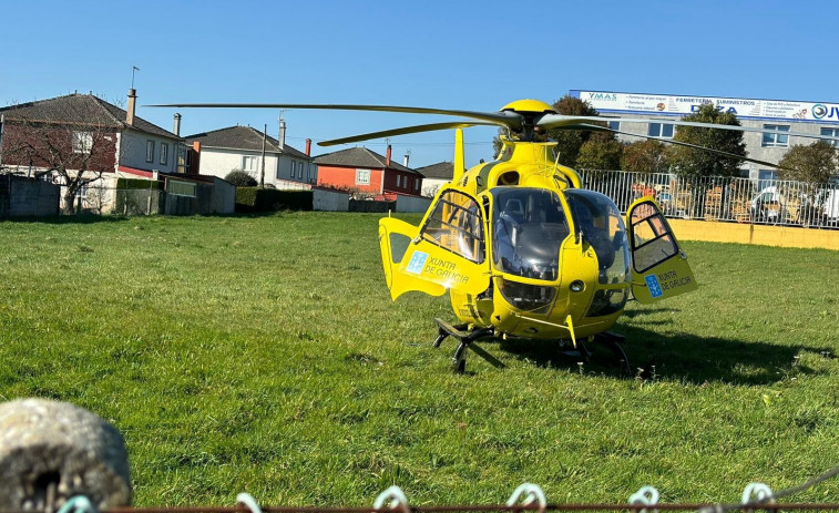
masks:
[(420, 228), (403, 220), (379, 220), (385, 279), (396, 300), (417, 290), (442, 296), (448, 289), (478, 295), (490, 285), (484, 214), (478, 201), (441, 189)]

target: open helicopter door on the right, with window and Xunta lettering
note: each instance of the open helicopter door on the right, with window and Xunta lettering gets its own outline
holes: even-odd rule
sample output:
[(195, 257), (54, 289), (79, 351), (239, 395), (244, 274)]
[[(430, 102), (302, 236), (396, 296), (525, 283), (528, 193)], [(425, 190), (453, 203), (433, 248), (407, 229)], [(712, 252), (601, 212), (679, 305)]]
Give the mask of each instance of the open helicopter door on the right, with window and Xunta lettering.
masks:
[(626, 212), (632, 250), (632, 294), (654, 302), (696, 290), (696, 279), (655, 201), (645, 196)]

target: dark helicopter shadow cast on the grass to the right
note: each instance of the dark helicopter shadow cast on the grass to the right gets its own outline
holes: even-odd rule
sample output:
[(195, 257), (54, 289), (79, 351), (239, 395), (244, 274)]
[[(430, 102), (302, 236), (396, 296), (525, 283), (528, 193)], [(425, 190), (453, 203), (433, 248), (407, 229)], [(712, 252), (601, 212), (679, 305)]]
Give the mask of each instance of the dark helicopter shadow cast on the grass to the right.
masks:
[[(589, 343), (590, 361), (577, 365), (579, 357), (561, 352), (553, 340), (484, 339), (479, 343), (494, 356), (508, 352), (535, 366), (584, 371), (616, 379), (649, 379), (681, 381), (692, 384), (722, 382), (735, 386), (769, 384), (796, 373), (815, 370), (796, 363), (801, 352), (819, 353), (822, 349), (805, 346), (776, 346), (746, 342), (722, 337), (699, 337), (689, 334), (664, 336), (637, 327), (620, 327), (626, 336), (622, 343), (630, 360), (632, 375), (622, 370), (618, 359), (607, 346)], [(478, 358), (470, 355), (470, 358)]]

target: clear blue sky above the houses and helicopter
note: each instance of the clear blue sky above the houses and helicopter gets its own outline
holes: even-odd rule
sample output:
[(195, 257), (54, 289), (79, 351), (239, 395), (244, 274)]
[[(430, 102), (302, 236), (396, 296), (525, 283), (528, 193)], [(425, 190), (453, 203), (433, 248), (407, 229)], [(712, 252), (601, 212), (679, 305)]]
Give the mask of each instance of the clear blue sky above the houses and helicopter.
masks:
[[(495, 111), (571, 89), (839, 102), (833, 1), (4, 2), (0, 105), (89, 92), (172, 129), (170, 102), (374, 103)], [(182, 110), (182, 135), (277, 111)], [(287, 142), (440, 117), (290, 111)], [(467, 164), (493, 129), (465, 133)], [(393, 137), (411, 165), (453, 132)], [(383, 141), (365, 143), (385, 153)], [(340, 148), (340, 147), (339, 147)], [(315, 154), (334, 148), (313, 147)]]

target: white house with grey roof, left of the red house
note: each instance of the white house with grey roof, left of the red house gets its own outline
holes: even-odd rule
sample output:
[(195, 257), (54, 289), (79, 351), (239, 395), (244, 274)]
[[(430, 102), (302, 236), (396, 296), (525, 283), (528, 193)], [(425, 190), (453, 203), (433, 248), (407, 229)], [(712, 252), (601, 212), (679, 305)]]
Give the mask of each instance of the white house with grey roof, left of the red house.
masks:
[(284, 124), (279, 141), (254, 127), (236, 125), (190, 135), (186, 142), (193, 148), (193, 167), (205, 175), (223, 178), (239, 170), (259, 182), (264, 170), (264, 183), (277, 188), (309, 188), (317, 183), (317, 166), (309, 156), (311, 142), (306, 141), (306, 153), (285, 144)]

